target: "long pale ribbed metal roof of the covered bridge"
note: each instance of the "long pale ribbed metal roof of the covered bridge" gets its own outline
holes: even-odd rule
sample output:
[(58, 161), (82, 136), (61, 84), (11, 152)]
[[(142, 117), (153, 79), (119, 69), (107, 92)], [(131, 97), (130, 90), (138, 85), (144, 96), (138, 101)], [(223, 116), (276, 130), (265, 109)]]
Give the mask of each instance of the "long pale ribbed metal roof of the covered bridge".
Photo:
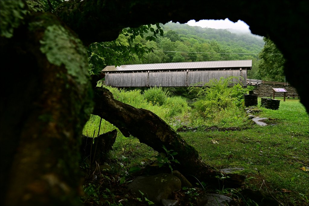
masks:
[(196, 61), (178, 62), (161, 64), (132, 64), (115, 67), (106, 66), (103, 72), (113, 71), (141, 71), (141, 70), (170, 70), (170, 69), (207, 69), (207, 68), (247, 68), (251, 69), (252, 60), (233, 60), (233, 61)]

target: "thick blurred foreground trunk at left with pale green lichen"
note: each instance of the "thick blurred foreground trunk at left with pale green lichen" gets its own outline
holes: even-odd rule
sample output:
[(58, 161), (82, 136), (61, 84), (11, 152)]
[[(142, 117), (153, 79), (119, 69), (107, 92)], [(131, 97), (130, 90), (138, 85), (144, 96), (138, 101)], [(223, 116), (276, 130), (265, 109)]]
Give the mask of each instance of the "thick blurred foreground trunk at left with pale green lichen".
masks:
[(1, 37), (10, 70), (1, 75), (1, 205), (77, 205), (80, 134), (92, 110), (86, 52), (55, 16), (28, 20)]

